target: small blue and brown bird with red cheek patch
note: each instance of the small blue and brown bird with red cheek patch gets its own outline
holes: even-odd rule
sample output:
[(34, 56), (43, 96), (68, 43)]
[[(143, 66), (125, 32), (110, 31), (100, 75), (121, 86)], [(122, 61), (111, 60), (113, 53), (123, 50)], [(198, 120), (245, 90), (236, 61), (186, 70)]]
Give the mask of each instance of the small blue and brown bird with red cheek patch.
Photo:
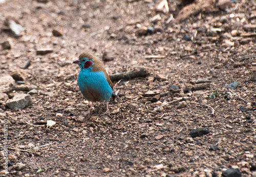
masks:
[(92, 113), (93, 103), (97, 101), (106, 101), (104, 114), (108, 113), (108, 101), (111, 97), (116, 97), (116, 94), (113, 92), (113, 83), (102, 62), (89, 52), (84, 52), (73, 63), (78, 64), (80, 68), (77, 80), (79, 89), (83, 97), (91, 102), (89, 115)]

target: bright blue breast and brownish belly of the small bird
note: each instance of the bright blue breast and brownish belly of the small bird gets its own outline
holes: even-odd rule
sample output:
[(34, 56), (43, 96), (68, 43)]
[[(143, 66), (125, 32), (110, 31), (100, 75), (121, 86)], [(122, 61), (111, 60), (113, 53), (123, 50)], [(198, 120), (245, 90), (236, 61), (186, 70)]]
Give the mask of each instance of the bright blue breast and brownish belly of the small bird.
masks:
[(109, 101), (112, 95), (112, 89), (103, 71), (81, 70), (78, 75), (78, 86), (83, 96), (89, 101)]

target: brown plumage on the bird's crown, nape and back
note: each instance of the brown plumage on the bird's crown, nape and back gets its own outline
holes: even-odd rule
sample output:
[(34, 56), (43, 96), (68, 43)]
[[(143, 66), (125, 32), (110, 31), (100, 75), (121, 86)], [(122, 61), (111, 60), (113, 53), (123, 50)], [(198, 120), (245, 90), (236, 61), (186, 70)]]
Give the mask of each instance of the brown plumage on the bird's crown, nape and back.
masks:
[(92, 55), (88, 52), (84, 52), (84, 53), (79, 55), (79, 59), (81, 59), (81, 58), (88, 58), (89, 60), (92, 60), (93, 63), (94, 63), (92, 72), (103, 71), (103, 73), (106, 76), (106, 81), (108, 81), (111, 89), (113, 89), (113, 83), (110, 79), (110, 76), (108, 75), (108, 73), (106, 73), (106, 70), (103, 68), (102, 62), (96, 56), (94, 56), (94, 55)]

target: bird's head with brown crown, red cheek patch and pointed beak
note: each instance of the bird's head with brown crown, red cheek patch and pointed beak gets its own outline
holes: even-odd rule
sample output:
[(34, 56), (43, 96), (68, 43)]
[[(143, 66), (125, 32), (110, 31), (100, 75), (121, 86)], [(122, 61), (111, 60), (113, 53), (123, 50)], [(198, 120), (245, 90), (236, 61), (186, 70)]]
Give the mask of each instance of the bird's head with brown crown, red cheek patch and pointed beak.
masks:
[(92, 70), (92, 67), (94, 65), (94, 56), (89, 53), (82, 53), (81, 55), (79, 55), (79, 58), (76, 59), (73, 63), (78, 64), (81, 70)]

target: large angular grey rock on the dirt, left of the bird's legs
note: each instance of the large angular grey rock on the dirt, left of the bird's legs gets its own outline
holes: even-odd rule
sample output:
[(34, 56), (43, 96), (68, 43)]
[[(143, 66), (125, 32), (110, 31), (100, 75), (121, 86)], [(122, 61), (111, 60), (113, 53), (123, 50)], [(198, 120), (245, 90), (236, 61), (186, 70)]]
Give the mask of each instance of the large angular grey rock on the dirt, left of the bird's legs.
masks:
[(23, 109), (32, 104), (33, 104), (32, 98), (28, 94), (18, 94), (14, 96), (13, 99), (8, 100), (6, 102), (6, 105), (10, 109), (14, 109), (14, 110)]

